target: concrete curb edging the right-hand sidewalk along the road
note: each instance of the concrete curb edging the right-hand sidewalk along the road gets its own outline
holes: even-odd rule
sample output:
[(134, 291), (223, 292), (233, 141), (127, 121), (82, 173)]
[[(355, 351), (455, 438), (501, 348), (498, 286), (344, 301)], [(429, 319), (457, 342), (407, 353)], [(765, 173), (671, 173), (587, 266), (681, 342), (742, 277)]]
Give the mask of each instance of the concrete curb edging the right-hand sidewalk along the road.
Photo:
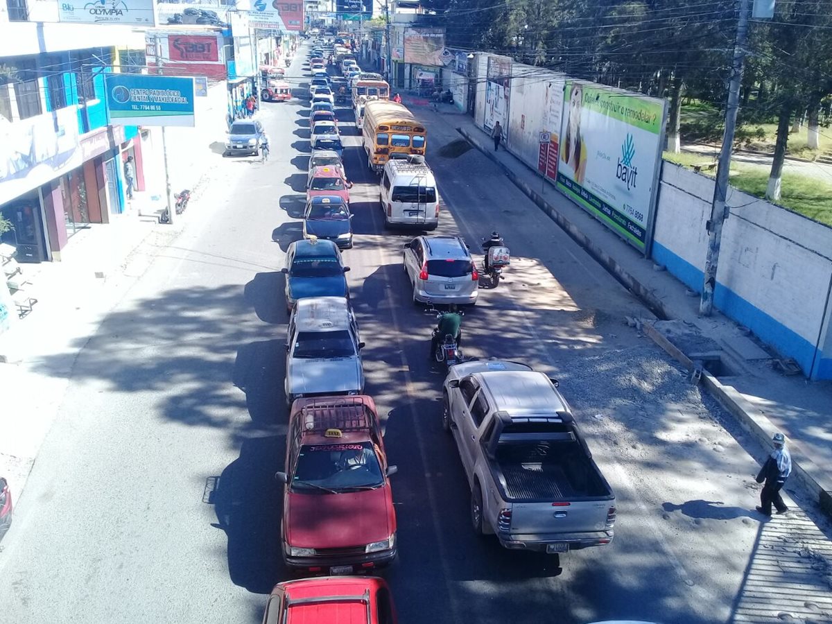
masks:
[[(586, 234), (584, 234), (577, 225), (568, 220), (565, 215), (559, 212), (554, 206), (547, 202), (539, 193), (534, 191), (525, 181), (522, 181), (517, 174), (515, 174), (507, 166), (494, 156), (493, 152), (488, 150), (488, 146), (483, 146), (477, 139), (470, 135), (464, 128), (457, 128), (459, 134), (475, 146), (479, 151), (483, 152), (485, 156), (495, 162), (508, 176), (518, 188), (531, 199), (538, 208), (543, 210), (567, 235), (575, 240), (578, 245), (584, 250), (587, 250), (589, 255), (597, 260), (610, 274), (616, 278), (627, 290), (630, 290), (636, 297), (639, 298), (654, 314), (660, 319), (673, 319), (674, 314), (668, 310), (664, 303), (659, 300), (656, 295), (646, 286), (641, 284), (639, 280), (628, 273), (617, 261), (612, 258), (600, 246), (592, 241)], [(511, 153), (511, 152), (509, 152)], [(516, 157), (516, 156), (515, 156)], [(686, 369), (691, 372), (696, 368), (693, 361), (686, 356), (675, 344), (666, 339), (664, 335), (659, 333), (651, 323), (642, 325), (645, 333), (664, 349), (673, 359), (676, 359)], [(706, 370), (702, 371), (701, 383), (705, 388), (720, 402), (720, 404), (732, 415), (737, 418), (737, 422), (742, 428), (752, 435), (757, 442), (762, 444), (763, 448), (772, 449), (771, 436), (777, 428), (770, 423), (765, 414), (760, 412), (751, 405), (739, 392), (731, 386), (721, 384), (716, 377), (708, 373)], [(825, 478), (819, 478), (817, 475), (822, 474), (822, 471), (813, 463), (809, 456), (803, 452), (800, 443), (794, 440), (789, 441), (789, 448), (792, 456), (792, 467), (795, 478), (806, 488), (820, 505), (821, 511), (832, 518), (832, 483), (825, 483)]]

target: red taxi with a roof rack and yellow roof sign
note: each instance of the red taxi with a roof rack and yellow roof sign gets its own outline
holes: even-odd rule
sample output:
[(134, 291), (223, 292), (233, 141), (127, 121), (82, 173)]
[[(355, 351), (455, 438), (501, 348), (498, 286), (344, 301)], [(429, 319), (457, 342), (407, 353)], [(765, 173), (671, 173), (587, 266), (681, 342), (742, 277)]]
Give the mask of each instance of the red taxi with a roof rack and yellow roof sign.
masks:
[(353, 574), (396, 557), (396, 513), (373, 399), (297, 399), (286, 434), (280, 532), (286, 565)]

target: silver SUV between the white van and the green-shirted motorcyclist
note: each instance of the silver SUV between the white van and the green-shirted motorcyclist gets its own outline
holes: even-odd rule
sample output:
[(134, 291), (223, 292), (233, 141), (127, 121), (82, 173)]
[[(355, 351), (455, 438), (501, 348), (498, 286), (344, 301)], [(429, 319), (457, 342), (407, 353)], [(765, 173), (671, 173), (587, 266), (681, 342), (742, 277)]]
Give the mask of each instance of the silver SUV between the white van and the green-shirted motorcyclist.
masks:
[(477, 267), (459, 236), (417, 236), (405, 243), (403, 261), (414, 304), (477, 303)]

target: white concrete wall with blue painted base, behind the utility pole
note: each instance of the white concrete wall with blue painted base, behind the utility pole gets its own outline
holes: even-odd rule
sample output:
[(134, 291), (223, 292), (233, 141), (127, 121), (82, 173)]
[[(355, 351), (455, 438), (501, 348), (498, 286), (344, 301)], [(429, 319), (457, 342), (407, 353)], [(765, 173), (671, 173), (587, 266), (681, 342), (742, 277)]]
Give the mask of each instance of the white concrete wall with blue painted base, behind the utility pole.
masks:
[[(714, 181), (665, 162), (653, 258), (701, 292)], [(800, 364), (832, 379), (832, 228), (730, 189), (716, 307)]]

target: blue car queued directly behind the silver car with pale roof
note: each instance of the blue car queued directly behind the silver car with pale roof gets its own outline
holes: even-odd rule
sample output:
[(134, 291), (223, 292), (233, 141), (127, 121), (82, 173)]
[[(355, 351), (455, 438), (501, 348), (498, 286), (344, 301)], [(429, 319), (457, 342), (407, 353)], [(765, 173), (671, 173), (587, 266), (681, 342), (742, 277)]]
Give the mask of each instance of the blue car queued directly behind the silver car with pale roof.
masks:
[(305, 297), (346, 297), (349, 266), (332, 240), (297, 240), (286, 253), (286, 311)]

